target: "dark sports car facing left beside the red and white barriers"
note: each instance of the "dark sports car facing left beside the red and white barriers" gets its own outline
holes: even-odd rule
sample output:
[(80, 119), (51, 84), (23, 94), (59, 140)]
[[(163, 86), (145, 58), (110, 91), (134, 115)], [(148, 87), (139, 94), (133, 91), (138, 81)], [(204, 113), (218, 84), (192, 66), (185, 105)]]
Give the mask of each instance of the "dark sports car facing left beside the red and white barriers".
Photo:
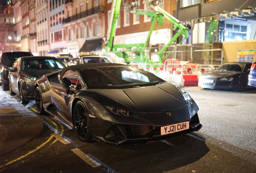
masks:
[(248, 83), (250, 62), (231, 62), (199, 76), (198, 86), (208, 89), (244, 91)]

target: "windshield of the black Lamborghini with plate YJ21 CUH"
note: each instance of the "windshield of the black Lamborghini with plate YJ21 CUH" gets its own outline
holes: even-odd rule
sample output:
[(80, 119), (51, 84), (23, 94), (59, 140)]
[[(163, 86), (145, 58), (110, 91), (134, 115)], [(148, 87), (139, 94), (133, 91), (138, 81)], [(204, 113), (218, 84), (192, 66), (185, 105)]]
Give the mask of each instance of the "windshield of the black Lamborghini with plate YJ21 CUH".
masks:
[(86, 69), (80, 70), (80, 73), (89, 89), (147, 87), (165, 82), (150, 72), (132, 66)]

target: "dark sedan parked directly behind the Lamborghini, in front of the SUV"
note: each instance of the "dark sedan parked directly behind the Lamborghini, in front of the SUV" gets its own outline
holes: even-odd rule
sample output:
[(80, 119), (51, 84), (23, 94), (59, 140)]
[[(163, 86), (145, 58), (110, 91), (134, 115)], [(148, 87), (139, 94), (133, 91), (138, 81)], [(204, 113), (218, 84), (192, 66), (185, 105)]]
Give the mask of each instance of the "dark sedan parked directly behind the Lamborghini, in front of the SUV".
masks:
[(56, 72), (65, 65), (55, 57), (27, 56), (15, 60), (9, 69), (10, 95), (19, 95), (22, 104), (35, 98), (35, 82), (44, 74)]

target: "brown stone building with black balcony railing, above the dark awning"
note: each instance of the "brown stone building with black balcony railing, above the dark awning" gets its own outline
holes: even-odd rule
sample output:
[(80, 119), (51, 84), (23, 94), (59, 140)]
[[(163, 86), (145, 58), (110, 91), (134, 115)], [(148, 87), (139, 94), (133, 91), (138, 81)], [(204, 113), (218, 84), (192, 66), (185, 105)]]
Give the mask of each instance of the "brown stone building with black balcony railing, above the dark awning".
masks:
[(105, 37), (104, 4), (105, 0), (65, 0), (62, 26), (68, 54), (78, 56), (85, 42)]

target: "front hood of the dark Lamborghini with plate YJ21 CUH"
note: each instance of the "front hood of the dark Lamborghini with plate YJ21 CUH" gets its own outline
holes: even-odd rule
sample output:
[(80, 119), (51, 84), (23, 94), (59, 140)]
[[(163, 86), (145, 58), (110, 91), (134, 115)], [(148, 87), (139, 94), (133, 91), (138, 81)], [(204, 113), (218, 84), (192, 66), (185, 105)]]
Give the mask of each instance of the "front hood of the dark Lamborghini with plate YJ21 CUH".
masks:
[[(168, 82), (150, 87), (91, 90), (141, 113), (161, 113), (163, 110), (177, 110), (186, 105), (180, 92)], [(109, 105), (108, 99), (107, 103), (104, 100), (98, 102), (115, 106)]]

